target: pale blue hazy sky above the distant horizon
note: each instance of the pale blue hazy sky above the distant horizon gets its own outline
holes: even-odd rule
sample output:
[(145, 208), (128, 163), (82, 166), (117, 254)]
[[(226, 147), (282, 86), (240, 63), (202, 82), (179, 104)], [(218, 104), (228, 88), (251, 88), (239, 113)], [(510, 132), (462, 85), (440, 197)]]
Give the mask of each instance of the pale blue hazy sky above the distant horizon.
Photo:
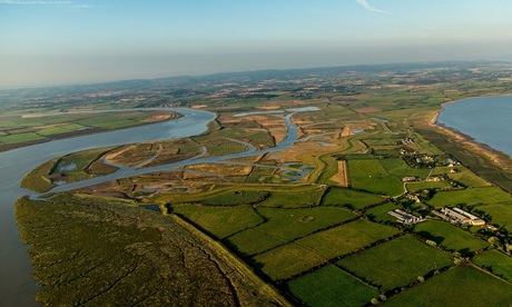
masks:
[(0, 0), (0, 89), (512, 60), (510, 0)]

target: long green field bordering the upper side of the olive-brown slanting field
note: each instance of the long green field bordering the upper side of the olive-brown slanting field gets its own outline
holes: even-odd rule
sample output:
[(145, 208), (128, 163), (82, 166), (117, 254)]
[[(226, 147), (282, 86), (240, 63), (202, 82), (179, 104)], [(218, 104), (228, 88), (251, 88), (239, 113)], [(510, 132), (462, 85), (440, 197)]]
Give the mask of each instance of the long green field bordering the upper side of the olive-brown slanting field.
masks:
[(228, 238), (228, 245), (235, 246), (244, 255), (254, 255), (293, 239), (306, 236), (315, 230), (333, 226), (354, 216), (343, 208), (314, 207), (311, 209), (258, 208), (267, 221)]

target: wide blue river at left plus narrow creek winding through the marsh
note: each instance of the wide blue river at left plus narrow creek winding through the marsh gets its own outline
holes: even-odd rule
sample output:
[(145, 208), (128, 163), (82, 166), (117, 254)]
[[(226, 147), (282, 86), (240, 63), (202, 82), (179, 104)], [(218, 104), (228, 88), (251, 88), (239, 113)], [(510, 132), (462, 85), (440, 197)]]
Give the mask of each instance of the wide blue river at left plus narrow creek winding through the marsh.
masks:
[[(28, 247), (22, 245), (14, 220), (13, 204), (16, 200), (24, 195), (36, 196), (33, 191), (19, 188), (23, 176), (51, 158), (76, 151), (196, 136), (206, 131), (207, 123), (215, 119), (215, 115), (211, 112), (194, 109), (166, 108), (158, 110), (180, 112), (184, 117), (136, 128), (50, 141), (0, 154), (0, 306), (37, 306), (35, 296), (38, 287), (31, 276), (32, 268), (27, 256)], [(305, 108), (304, 111), (311, 110)], [(104, 177), (58, 186), (52, 191), (68, 191), (124, 177), (154, 171), (175, 170), (175, 168), (183, 166), (221, 162), (225, 159), (278, 151), (292, 146), (297, 140), (297, 131), (292, 123), (291, 117), (292, 113), (285, 117), (288, 128), (286, 139), (274, 148), (257, 151), (249, 148), (248, 151), (223, 157), (201, 158), (199, 156), (170, 165), (142, 169), (122, 168)]]

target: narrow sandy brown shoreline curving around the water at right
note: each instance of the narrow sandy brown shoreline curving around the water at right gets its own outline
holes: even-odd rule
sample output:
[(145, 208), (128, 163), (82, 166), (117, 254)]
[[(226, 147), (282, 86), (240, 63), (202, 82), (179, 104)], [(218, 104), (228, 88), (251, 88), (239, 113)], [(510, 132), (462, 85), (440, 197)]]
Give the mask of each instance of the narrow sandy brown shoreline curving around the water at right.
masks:
[[(509, 96), (509, 95), (503, 95), (503, 96)], [(485, 96), (483, 96), (483, 97), (485, 97)], [(473, 97), (473, 98), (483, 98), (483, 97)], [(489, 96), (489, 97), (498, 97), (498, 96)], [(456, 102), (460, 102), (460, 101), (466, 100), (466, 99), (473, 99), (473, 98), (464, 98), (464, 99), (460, 99), (460, 100), (447, 101), (447, 102), (441, 103), (441, 109), (439, 111), (436, 111), (434, 117), (429, 121), (429, 126), (437, 128), (441, 131), (447, 133), (449, 136), (455, 138), (457, 141), (461, 141), (463, 146), (466, 146), (470, 149), (474, 150), (475, 154), (482, 155), (485, 158), (490, 159), (495, 165), (498, 165), (500, 168), (505, 169), (505, 170), (511, 170), (512, 169), (512, 167), (511, 167), (512, 157), (511, 156), (506, 155), (503, 151), (494, 149), (494, 148), (492, 148), (491, 146), (489, 146), (489, 145), (486, 145), (484, 142), (476, 141), (473, 137), (471, 137), (471, 136), (469, 136), (469, 135), (466, 135), (464, 132), (461, 132), (460, 130), (457, 130), (455, 128), (447, 127), (447, 126), (445, 126), (443, 123), (437, 122), (437, 119), (439, 119), (441, 112), (445, 110), (444, 106), (456, 103)]]

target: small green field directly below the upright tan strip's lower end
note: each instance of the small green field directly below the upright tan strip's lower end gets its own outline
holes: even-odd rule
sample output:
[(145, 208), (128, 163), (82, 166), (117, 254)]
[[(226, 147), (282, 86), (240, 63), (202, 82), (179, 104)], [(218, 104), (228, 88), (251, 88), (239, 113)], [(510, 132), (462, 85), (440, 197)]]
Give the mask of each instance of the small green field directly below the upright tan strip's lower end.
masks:
[(384, 201), (384, 198), (374, 194), (331, 187), (322, 198), (322, 206), (341, 205), (353, 209), (362, 209), (382, 201)]

